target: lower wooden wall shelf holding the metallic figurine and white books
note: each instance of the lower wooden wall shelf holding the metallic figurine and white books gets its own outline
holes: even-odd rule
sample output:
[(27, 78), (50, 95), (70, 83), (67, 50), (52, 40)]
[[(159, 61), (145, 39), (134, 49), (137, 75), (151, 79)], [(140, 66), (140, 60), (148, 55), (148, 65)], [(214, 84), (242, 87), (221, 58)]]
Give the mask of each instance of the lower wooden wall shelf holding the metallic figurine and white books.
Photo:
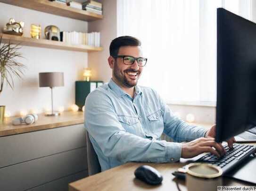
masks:
[(60, 41), (53, 41), (47, 39), (34, 39), (28, 37), (20, 37), (15, 35), (8, 35), (0, 33), (0, 37), (2, 37), (3, 43), (8, 43), (9, 40), (12, 44), (20, 44), (21, 46), (34, 46), (34, 47), (43, 47), (43, 48), (54, 48), (61, 50), (71, 50), (71, 51), (79, 51), (79, 52), (96, 52), (102, 51), (102, 47), (94, 47), (88, 45), (73, 45), (66, 44)]

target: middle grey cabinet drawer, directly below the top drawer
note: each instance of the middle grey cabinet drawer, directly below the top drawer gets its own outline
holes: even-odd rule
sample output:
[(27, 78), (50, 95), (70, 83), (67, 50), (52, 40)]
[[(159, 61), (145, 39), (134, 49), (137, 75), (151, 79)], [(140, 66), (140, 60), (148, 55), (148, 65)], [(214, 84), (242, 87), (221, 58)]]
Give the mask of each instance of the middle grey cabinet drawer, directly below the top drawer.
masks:
[(24, 191), (84, 170), (86, 147), (0, 168), (0, 191)]

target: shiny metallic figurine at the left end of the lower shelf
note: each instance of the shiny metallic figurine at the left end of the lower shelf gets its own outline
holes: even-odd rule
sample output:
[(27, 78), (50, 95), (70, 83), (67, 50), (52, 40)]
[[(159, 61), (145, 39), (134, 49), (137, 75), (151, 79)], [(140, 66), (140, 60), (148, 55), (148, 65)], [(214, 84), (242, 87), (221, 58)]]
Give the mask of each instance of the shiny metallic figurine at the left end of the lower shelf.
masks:
[(24, 27), (24, 22), (17, 23), (13, 18), (10, 18), (9, 23), (6, 23), (6, 26), (3, 28), (3, 33), (22, 36), (23, 27)]

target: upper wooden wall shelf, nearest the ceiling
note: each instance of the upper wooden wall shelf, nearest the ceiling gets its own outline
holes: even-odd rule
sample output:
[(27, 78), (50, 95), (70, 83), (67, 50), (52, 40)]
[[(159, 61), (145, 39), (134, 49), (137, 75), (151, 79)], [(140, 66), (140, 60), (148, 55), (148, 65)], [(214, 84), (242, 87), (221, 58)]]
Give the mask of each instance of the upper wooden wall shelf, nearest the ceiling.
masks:
[(103, 18), (102, 15), (70, 8), (65, 4), (49, 0), (0, 0), (0, 2), (83, 21), (95, 21)]

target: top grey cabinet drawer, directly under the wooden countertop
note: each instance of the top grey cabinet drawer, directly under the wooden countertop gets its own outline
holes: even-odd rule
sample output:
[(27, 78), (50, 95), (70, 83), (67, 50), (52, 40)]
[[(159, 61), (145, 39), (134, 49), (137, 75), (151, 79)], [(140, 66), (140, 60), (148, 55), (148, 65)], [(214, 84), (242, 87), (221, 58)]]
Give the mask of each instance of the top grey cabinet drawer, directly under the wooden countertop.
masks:
[(0, 138), (0, 168), (86, 145), (83, 124)]

